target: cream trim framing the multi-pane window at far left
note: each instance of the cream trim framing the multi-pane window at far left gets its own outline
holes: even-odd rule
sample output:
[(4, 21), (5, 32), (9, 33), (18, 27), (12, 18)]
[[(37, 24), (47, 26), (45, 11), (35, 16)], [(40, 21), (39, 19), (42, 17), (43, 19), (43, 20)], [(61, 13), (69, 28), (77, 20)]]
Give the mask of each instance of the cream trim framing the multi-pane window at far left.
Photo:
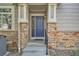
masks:
[(10, 14), (12, 14), (12, 28), (11, 29), (3, 29), (3, 28), (0, 28), (0, 30), (15, 30), (15, 16), (14, 16), (14, 6), (11, 5), (11, 6), (0, 6), (0, 8), (11, 8), (12, 11)]

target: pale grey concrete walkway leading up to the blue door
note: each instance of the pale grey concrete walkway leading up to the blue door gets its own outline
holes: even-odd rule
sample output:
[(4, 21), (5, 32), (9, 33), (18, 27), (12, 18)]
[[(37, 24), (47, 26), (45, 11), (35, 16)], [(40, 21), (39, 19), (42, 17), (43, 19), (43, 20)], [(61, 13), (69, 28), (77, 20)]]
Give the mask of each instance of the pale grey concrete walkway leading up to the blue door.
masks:
[(22, 56), (45, 56), (46, 46), (43, 41), (31, 41), (24, 48)]

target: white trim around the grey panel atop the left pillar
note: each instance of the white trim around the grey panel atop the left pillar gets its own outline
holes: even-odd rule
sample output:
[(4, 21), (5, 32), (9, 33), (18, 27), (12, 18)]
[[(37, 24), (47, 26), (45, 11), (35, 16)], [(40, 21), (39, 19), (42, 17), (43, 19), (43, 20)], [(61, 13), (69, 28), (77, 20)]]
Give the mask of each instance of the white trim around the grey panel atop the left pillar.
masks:
[[(23, 18), (21, 18), (21, 16), (20, 16), (20, 11), (21, 11), (20, 6), (23, 6), (23, 13), (24, 13)], [(28, 22), (28, 6), (27, 6), (27, 4), (18, 5), (18, 22)]]

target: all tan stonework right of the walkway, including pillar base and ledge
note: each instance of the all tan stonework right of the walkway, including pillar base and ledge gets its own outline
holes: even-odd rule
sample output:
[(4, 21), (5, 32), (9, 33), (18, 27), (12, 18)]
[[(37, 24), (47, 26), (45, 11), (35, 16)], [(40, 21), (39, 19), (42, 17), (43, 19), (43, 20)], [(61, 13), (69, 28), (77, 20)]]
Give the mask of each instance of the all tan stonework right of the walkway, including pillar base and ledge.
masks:
[(79, 32), (58, 31), (56, 23), (48, 23), (48, 44), (50, 55), (73, 55), (72, 49), (79, 49)]

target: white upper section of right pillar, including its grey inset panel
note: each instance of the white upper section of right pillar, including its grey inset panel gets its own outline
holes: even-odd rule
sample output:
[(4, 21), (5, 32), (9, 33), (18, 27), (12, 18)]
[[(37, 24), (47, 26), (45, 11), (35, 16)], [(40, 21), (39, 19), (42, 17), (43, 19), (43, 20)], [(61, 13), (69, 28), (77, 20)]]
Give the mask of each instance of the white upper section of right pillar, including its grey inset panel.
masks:
[(56, 4), (48, 5), (48, 22), (56, 22)]

